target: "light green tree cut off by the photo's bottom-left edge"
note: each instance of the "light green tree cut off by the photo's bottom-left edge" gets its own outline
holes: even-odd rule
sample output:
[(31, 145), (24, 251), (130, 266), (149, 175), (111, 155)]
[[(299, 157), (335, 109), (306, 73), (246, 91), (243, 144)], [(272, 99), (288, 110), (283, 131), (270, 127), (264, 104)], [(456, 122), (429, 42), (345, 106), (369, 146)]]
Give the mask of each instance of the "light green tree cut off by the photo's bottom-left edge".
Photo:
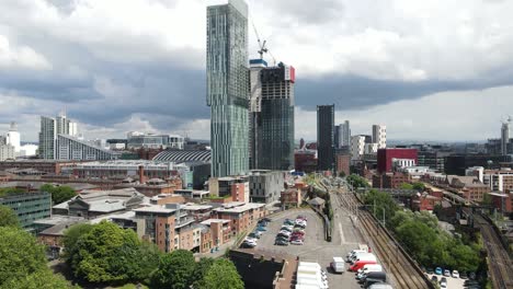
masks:
[(0, 286), (46, 269), (44, 246), (19, 228), (0, 228)]

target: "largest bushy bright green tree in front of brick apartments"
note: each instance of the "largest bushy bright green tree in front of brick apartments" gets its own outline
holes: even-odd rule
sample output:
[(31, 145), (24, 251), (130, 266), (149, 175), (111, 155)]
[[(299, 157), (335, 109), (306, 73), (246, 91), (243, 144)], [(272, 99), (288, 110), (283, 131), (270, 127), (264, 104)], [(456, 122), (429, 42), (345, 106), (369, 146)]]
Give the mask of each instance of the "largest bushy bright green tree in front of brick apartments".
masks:
[(77, 277), (90, 282), (124, 284), (133, 278), (130, 264), (137, 261), (130, 257), (139, 245), (133, 230), (102, 221), (78, 239), (71, 267)]

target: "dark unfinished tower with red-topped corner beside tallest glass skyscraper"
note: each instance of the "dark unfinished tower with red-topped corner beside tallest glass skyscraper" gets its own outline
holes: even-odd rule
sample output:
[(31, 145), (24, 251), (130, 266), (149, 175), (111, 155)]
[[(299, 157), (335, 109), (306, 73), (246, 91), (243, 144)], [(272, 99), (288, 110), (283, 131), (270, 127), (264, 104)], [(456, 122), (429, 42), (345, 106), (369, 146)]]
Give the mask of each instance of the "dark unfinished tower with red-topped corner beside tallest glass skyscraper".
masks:
[(290, 170), (294, 166), (295, 69), (283, 62), (267, 67), (262, 59), (250, 63), (250, 166)]

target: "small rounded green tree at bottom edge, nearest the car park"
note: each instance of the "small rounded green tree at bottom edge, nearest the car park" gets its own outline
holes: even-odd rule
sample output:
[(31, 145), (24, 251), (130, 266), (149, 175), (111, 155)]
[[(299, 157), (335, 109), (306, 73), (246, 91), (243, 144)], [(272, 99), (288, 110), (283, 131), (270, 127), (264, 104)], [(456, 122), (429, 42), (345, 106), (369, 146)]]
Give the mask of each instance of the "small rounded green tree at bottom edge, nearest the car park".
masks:
[(243, 289), (244, 282), (240, 278), (233, 263), (219, 258), (208, 268), (203, 278), (201, 289)]

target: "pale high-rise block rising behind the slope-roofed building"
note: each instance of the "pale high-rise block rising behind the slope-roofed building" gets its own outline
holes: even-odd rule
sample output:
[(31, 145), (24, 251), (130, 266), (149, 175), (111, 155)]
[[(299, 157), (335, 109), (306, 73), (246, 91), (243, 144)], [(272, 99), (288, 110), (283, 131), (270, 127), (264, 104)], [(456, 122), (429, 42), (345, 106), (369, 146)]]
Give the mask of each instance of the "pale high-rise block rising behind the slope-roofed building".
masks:
[(39, 131), (39, 158), (45, 160), (56, 159), (57, 137), (59, 135), (77, 136), (77, 123), (71, 122), (66, 115), (57, 117), (41, 117)]

